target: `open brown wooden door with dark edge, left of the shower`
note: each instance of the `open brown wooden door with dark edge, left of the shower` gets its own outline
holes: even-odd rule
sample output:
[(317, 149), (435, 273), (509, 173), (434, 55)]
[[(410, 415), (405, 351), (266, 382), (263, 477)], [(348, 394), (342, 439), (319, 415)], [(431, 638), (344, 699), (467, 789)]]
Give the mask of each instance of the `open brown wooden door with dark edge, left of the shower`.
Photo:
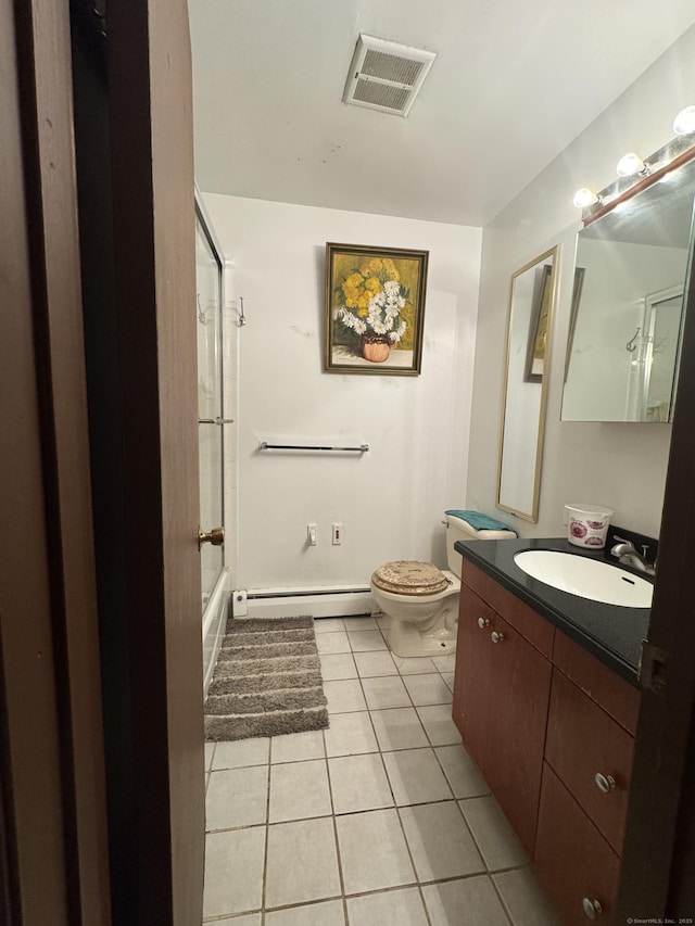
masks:
[(99, 26), (74, 54), (113, 916), (189, 926), (204, 763), (188, 10), (109, 0)]

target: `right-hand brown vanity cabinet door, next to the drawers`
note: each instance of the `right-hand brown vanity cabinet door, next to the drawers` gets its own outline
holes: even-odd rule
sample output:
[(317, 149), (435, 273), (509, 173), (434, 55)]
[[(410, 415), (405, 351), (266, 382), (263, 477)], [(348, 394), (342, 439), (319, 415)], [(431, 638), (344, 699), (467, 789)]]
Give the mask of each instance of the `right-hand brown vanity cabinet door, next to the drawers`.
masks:
[(500, 617), (486, 636), (492, 694), (484, 775), (533, 858), (552, 665)]

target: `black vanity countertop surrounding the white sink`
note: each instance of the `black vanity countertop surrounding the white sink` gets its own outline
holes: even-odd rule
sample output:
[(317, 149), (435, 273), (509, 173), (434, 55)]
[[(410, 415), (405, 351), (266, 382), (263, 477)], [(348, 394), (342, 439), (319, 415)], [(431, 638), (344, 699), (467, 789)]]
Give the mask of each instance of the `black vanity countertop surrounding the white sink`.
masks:
[[(604, 605), (560, 592), (527, 575), (514, 561), (523, 549), (554, 549), (605, 560), (604, 550), (584, 550), (565, 537), (525, 537), (506, 541), (457, 541), (455, 549), (495, 579), (517, 598), (559, 627), (567, 636), (593, 654), (635, 687), (641, 644), (646, 639), (649, 608)], [(630, 570), (628, 570), (630, 571)], [(642, 579), (649, 576), (639, 573)]]

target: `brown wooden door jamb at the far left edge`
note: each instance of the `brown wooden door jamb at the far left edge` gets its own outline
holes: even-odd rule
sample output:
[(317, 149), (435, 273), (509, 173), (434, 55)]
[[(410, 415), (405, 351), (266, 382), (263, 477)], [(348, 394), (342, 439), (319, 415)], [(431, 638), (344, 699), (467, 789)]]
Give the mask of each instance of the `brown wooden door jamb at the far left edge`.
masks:
[(0, 909), (105, 926), (67, 3), (2, 0), (0, 16)]

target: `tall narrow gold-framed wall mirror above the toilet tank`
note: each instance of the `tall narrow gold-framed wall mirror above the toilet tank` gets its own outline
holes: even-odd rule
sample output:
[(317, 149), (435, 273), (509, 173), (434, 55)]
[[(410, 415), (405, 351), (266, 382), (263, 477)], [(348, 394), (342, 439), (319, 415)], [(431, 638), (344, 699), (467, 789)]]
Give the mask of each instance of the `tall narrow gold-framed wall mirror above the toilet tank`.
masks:
[(557, 246), (511, 275), (497, 508), (539, 519)]

